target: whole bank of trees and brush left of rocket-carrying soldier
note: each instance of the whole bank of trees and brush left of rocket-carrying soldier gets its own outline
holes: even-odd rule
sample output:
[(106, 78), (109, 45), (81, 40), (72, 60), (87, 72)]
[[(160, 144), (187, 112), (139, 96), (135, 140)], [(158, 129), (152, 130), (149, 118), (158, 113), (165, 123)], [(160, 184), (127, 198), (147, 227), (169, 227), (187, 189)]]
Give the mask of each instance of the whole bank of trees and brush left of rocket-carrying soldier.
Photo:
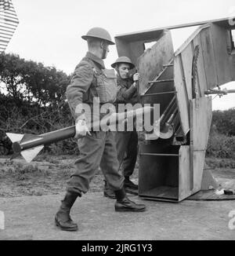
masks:
[[(11, 152), (6, 132), (40, 134), (71, 126), (65, 101), (70, 81), (54, 67), (0, 54), (0, 154)], [(70, 141), (71, 147), (75, 145)]]

